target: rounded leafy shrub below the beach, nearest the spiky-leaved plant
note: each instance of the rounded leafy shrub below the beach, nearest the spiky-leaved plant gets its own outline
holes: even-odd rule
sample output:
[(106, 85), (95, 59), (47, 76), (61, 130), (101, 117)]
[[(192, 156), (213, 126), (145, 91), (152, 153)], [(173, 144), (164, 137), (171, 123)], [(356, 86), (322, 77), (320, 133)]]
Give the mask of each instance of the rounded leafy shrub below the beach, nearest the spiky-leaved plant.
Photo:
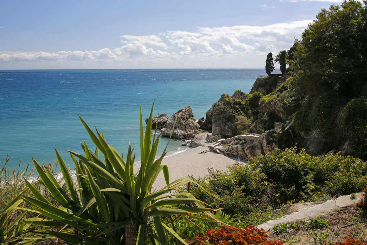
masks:
[(259, 209), (266, 210), (267, 203), (262, 200), (262, 195), (268, 190), (265, 175), (251, 166), (236, 164), (229, 166), (227, 172), (209, 169), (209, 174), (204, 178), (195, 179), (197, 183), (217, 195), (214, 198), (202, 191), (195, 184), (191, 193), (201, 201), (214, 208), (223, 208), (225, 213), (232, 216), (246, 216)]

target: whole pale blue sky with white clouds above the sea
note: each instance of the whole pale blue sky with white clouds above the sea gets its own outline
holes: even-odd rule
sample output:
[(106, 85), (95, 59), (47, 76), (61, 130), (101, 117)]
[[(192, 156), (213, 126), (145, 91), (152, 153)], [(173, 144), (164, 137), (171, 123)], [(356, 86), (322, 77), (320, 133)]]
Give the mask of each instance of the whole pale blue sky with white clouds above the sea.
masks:
[(341, 3), (2, 1), (0, 69), (264, 68), (321, 8)]

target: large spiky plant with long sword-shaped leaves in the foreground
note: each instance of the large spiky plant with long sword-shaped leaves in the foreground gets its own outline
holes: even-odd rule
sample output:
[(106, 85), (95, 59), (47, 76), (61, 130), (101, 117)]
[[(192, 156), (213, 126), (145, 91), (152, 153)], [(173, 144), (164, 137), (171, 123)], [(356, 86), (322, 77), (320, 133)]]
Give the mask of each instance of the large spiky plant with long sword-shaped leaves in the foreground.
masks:
[[(201, 217), (202, 220), (215, 219), (212, 209), (188, 192), (173, 191), (192, 180), (187, 178), (169, 181), (168, 167), (161, 161), (166, 155), (156, 158), (159, 136), (152, 139), (152, 113), (143, 132), (140, 108), (140, 147), (141, 166), (134, 174), (133, 150), (129, 144), (127, 158), (105, 141), (103, 133), (97, 134), (79, 116), (97, 149), (92, 152), (84, 142), (81, 146), (85, 156), (70, 152), (75, 164), (77, 184), (73, 182), (70, 171), (55, 149), (58, 163), (68, 191), (64, 191), (47, 168), (42, 168), (33, 159), (40, 175), (40, 182), (57, 199), (59, 206), (48, 202), (30, 183), (27, 182), (34, 198), (21, 195), (39, 213), (49, 217), (47, 220), (27, 220), (39, 226), (59, 226), (58, 230), (46, 230), (69, 244), (168, 244), (166, 234), (175, 237), (178, 243), (187, 244), (177, 232), (164, 223), (162, 216), (186, 215)], [(99, 158), (102, 153), (102, 159)], [(136, 171), (136, 169), (135, 169)], [(158, 174), (163, 172), (166, 187), (152, 191)], [(179, 197), (176, 197), (179, 196)], [(71, 234), (65, 234), (71, 228)]]

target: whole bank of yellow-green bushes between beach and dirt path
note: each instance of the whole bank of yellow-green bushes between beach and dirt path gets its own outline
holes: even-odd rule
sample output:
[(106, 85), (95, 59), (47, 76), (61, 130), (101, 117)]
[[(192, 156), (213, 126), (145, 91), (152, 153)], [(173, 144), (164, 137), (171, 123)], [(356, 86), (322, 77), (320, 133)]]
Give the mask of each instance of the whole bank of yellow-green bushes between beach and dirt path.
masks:
[(195, 181), (223, 201), (193, 185), (191, 193), (198, 199), (246, 225), (258, 225), (277, 217), (272, 211), (287, 203), (360, 192), (367, 186), (367, 165), (341, 154), (310, 156), (295, 147), (275, 148), (249, 159), (248, 165), (235, 164), (226, 172), (209, 170)]

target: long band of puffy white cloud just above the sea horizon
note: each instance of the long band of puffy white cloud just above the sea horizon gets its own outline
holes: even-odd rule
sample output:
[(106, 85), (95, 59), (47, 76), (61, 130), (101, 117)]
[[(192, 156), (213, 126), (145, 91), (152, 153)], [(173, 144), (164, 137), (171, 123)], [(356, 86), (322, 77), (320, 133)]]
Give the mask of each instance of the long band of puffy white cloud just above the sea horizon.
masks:
[(145, 68), (154, 68), (161, 65), (160, 67), (164, 68), (173, 65), (184, 67), (201, 62), (200, 64), (207, 64), (205, 67), (214, 64), (224, 67), (223, 61), (226, 61), (228, 63), (225, 67), (238, 67), (238, 61), (247, 59), (246, 57), (254, 59), (255, 56), (266, 56), (269, 52), (287, 50), (292, 46), (294, 37), (299, 38), (310, 22), (312, 20), (266, 26), (198, 27), (195, 32), (170, 30), (159, 35), (147, 36), (123, 35), (122, 46), (113, 50), (103, 48), (97, 51), (75, 50), (57, 53), (9, 52), (0, 54), (0, 65), (4, 67), (4, 64), (28, 64), (33, 67), (32, 64), (39, 62), (59, 66), (72, 64), (70, 68), (76, 68), (75, 64), (99, 64), (100, 67), (114, 64), (119, 68), (122, 65), (132, 68), (144, 68), (144, 65)]

